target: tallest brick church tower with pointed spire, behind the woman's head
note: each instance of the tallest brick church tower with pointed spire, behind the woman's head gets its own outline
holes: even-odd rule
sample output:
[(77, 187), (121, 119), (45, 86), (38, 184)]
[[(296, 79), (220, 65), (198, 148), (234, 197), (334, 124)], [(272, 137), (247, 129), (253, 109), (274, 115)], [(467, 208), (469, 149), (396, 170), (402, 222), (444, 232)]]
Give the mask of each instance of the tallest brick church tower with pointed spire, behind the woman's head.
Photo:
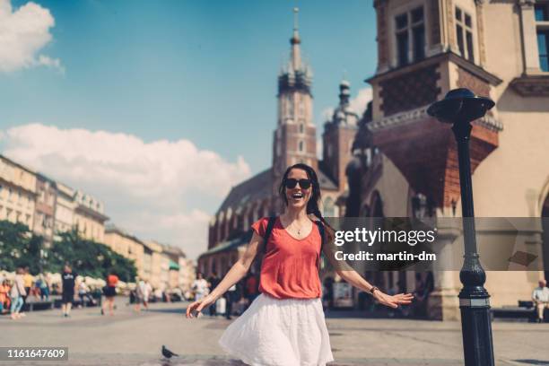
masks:
[(301, 59), (298, 8), (293, 9), (292, 53), (278, 74), (278, 120), (273, 136), (274, 189), (284, 170), (304, 162), (318, 169), (316, 127), (312, 118), (312, 71)]

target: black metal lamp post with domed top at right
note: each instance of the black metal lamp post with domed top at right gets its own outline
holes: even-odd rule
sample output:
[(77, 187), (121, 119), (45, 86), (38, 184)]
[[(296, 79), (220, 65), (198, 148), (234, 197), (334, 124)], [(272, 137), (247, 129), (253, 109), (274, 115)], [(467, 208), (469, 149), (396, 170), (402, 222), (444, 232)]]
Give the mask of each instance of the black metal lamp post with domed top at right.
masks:
[(454, 89), (427, 109), (430, 116), (440, 122), (452, 124), (457, 142), (459, 161), (459, 186), (463, 211), (465, 256), (459, 279), (463, 289), (459, 292), (461, 332), (466, 366), (493, 366), (492, 323), (490, 318), (490, 295), (484, 288), (486, 274), (476, 251), (475, 212), (471, 182), (469, 140), (471, 121), (481, 118), (494, 102), (478, 97), (468, 89)]

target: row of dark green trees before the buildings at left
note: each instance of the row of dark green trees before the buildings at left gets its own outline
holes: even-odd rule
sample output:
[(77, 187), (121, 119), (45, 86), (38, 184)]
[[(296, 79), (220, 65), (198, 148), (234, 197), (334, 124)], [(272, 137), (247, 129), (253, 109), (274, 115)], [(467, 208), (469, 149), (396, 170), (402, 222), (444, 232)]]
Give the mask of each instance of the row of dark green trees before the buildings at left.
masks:
[(61, 233), (46, 249), (42, 237), (34, 235), (26, 225), (0, 221), (0, 268), (14, 271), (18, 266), (29, 266), (31, 274), (38, 274), (40, 269), (61, 273), (65, 263), (76, 273), (92, 277), (117, 274), (120, 280), (130, 282), (136, 275), (133, 260), (104, 244), (83, 239), (76, 231)]

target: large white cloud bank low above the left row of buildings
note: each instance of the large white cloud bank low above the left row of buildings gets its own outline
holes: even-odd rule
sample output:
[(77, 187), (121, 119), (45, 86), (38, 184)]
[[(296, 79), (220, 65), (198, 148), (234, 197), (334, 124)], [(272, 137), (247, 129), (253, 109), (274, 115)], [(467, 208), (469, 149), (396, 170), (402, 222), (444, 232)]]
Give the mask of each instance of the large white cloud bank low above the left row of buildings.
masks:
[(115, 224), (143, 239), (205, 250), (211, 207), (248, 178), (242, 157), (226, 161), (188, 140), (145, 143), (135, 135), (31, 124), (4, 131), (4, 153), (106, 205)]

